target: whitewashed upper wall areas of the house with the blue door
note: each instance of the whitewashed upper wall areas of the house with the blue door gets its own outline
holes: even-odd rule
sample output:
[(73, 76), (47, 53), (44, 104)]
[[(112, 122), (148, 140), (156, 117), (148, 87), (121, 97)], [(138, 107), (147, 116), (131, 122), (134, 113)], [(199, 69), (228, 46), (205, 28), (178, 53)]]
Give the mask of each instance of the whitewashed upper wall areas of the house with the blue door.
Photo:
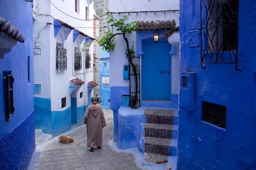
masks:
[[(109, 0), (108, 7), (110, 12), (135, 12), (135, 11), (168, 11), (168, 10), (179, 10), (180, 4), (179, 0)], [(124, 14), (113, 14), (115, 18), (121, 18)], [(128, 15), (128, 13), (126, 13)], [(176, 27), (180, 25), (179, 21), (180, 12), (156, 12), (156, 13), (130, 13), (129, 21), (134, 20), (175, 20)], [(114, 34), (117, 33), (115, 29), (111, 29)], [(130, 46), (134, 42), (133, 49), (136, 51), (136, 32), (127, 35)], [(129, 81), (124, 80), (123, 72), (117, 72), (116, 70), (122, 70), (124, 65), (128, 64), (128, 59), (124, 54), (126, 43), (123, 36), (116, 36), (115, 38), (115, 50), (110, 51), (110, 86), (129, 86)], [(117, 43), (118, 42), (118, 43)], [(176, 54), (172, 55), (172, 68), (179, 71), (179, 56), (180, 50), (179, 47), (176, 49)], [(173, 81), (173, 79), (179, 80), (179, 74), (172, 74), (172, 93), (178, 94), (179, 81)]]

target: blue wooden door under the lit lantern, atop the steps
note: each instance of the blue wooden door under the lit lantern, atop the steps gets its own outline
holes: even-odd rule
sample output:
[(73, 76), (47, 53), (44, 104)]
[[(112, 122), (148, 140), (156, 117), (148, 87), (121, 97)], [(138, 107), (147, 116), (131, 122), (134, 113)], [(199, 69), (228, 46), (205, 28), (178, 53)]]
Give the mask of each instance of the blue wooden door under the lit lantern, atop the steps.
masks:
[(168, 42), (148, 42), (144, 58), (144, 100), (170, 100), (171, 55)]

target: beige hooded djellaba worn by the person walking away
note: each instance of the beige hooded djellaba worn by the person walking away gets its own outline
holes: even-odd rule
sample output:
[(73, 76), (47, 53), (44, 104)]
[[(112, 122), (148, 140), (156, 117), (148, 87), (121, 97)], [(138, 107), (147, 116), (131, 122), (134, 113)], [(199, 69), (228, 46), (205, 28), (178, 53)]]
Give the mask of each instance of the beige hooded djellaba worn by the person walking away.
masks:
[(102, 145), (102, 128), (106, 126), (103, 110), (100, 104), (91, 104), (85, 111), (84, 124), (87, 124), (87, 146)]

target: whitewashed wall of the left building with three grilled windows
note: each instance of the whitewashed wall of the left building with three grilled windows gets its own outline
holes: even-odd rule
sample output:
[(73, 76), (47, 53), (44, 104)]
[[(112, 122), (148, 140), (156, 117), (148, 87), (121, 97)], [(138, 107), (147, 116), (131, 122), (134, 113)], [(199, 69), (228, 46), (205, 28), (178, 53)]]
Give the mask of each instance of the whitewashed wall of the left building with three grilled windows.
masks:
[[(73, 30), (65, 40), (65, 32), (60, 30), (58, 35), (54, 37), (54, 19), (61, 20), (68, 25), (78, 29), (84, 34), (93, 37), (93, 2), (89, 0), (80, 0), (78, 13), (75, 12), (75, 3), (71, 0), (51, 0), (49, 1), (34, 0), (34, 33), (33, 41), (41, 41), (41, 54), (34, 55), (35, 65), (35, 84), (41, 84), (41, 94), (35, 94), (35, 97), (51, 98), (52, 111), (61, 111), (61, 98), (66, 97), (67, 107), (70, 103), (70, 80), (79, 78), (85, 83), (76, 92), (77, 107), (88, 104), (88, 82), (93, 80), (93, 44), (89, 47), (91, 55), (91, 68), (85, 69), (85, 52), (82, 52), (82, 70), (74, 71), (74, 47), (78, 47), (81, 51), (83, 42), (78, 38), (73, 42)], [(56, 6), (58, 9), (56, 9)], [(89, 20), (85, 19), (85, 7), (89, 9)], [(69, 15), (69, 16), (67, 16)], [(37, 14), (37, 15), (36, 15)], [(39, 15), (38, 15), (39, 14)], [(74, 18), (72, 18), (72, 17)], [(82, 20), (78, 20), (78, 19)], [(52, 23), (52, 25), (47, 25)], [(39, 36), (38, 36), (39, 35)], [(67, 49), (67, 70), (58, 72), (56, 70), (56, 39), (63, 41), (63, 47)], [(83, 92), (83, 98), (80, 99), (80, 92)]]

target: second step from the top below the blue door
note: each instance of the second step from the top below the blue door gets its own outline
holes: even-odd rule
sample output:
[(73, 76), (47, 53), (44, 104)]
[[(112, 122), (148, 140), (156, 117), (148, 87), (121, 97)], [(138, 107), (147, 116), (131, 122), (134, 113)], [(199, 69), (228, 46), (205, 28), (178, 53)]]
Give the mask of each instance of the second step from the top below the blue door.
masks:
[(178, 125), (144, 123), (144, 136), (177, 139)]

